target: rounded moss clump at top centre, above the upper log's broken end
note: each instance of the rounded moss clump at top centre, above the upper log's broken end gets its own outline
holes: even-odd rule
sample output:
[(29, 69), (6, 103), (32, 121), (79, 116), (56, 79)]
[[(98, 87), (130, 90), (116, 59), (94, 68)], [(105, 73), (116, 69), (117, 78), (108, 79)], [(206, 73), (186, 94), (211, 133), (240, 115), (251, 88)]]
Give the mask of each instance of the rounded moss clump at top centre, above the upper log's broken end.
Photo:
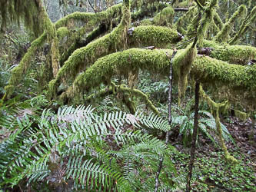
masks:
[(155, 15), (154, 24), (155, 25), (172, 25), (175, 16), (175, 10), (168, 6)]

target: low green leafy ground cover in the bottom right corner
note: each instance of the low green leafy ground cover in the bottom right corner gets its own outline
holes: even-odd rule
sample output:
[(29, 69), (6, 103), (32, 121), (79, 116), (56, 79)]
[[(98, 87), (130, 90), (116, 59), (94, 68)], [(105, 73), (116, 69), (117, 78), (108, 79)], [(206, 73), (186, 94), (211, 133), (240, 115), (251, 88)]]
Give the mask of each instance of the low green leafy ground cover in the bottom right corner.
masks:
[[(224, 152), (217, 149), (200, 147), (194, 161), (193, 176), (191, 180), (194, 191), (255, 191), (255, 175), (253, 160), (242, 154), (237, 148), (232, 154), (238, 159), (236, 166), (231, 166), (224, 160)], [(185, 149), (185, 151), (187, 151)], [(178, 175), (186, 175), (188, 171), (188, 152), (174, 154), (171, 157), (178, 168)], [(185, 190), (185, 179), (174, 178)]]

